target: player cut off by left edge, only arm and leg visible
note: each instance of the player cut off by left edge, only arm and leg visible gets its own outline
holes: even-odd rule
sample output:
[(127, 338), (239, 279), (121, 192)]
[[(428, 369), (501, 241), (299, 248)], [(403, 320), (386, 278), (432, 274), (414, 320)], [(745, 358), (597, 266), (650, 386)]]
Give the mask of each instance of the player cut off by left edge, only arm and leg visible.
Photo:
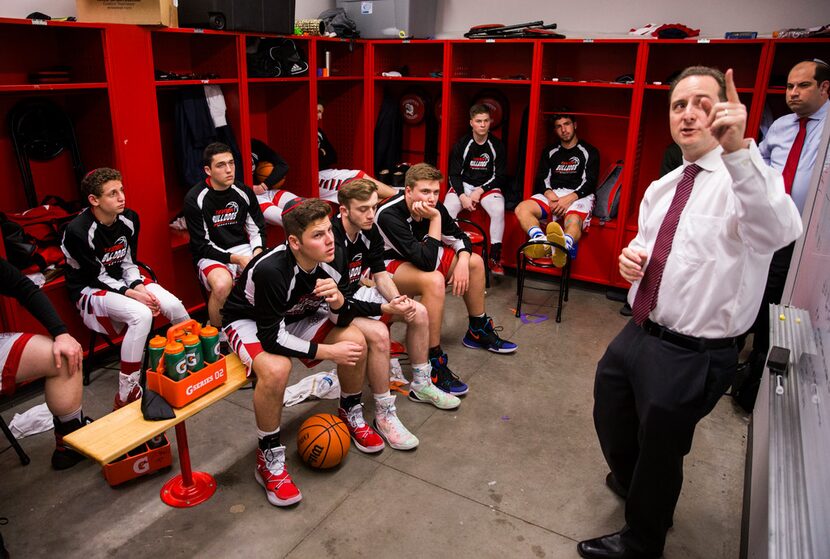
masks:
[(83, 456), (68, 449), (63, 444), (63, 437), (88, 421), (81, 411), (81, 344), (69, 335), (49, 298), (2, 258), (0, 294), (17, 299), (49, 332), (49, 336), (0, 332), (0, 395), (14, 394), (17, 383), (45, 379), (46, 406), (52, 412), (55, 425), (52, 467), (65, 470), (81, 461)]

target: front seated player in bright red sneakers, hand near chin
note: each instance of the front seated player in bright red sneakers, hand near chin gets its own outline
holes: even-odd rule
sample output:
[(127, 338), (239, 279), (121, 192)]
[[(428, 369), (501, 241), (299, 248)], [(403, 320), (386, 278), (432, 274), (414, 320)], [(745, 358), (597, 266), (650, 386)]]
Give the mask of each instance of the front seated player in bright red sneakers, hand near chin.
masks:
[[(302, 498), (285, 468), (285, 446), (280, 441), (291, 357), (307, 364), (321, 360), (337, 363), (339, 415), (355, 446), (367, 453), (380, 452), (385, 446), (363, 418), (367, 341), (351, 324), (355, 316), (369, 316), (378, 310), (344, 297), (338, 289), (348, 263), (345, 253), (336, 249), (328, 204), (321, 200), (291, 202), (283, 213), (283, 225), (286, 243), (251, 261), (222, 309), (223, 330), (231, 348), (257, 378), (256, 479), (265, 488), (268, 501), (276, 506), (291, 505)], [(405, 301), (386, 304), (383, 310), (408, 312)], [(388, 378), (385, 381), (388, 383)], [(388, 393), (388, 384), (386, 390)], [(384, 396), (376, 395), (375, 424), (387, 436), (398, 432), (403, 439), (412, 437), (400, 424), (394, 402)], [(417, 439), (414, 442), (417, 444)]]

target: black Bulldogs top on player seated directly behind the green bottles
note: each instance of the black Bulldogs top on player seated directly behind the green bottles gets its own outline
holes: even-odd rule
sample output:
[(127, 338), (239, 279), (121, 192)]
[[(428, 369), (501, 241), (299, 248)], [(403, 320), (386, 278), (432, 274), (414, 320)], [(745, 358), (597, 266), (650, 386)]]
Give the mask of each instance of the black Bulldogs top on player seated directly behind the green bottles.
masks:
[(209, 258), (229, 264), (233, 247), (265, 248), (265, 218), (256, 194), (245, 185), (215, 190), (205, 179), (185, 196), (184, 217), (196, 262)]

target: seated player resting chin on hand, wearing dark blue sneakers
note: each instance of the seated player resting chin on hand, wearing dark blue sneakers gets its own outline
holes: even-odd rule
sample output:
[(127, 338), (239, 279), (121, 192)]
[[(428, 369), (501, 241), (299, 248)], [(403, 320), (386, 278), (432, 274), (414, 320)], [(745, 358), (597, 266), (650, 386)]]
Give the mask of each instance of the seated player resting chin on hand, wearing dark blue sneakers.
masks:
[(439, 388), (460, 395), (468, 387), (449, 370), (440, 345), (445, 283), (467, 306), (469, 327), (462, 340), (466, 347), (513, 353), (517, 346), (501, 339), (485, 314), (484, 261), (473, 253), (470, 239), (438, 201), (442, 179), (441, 171), (427, 163), (413, 165), (406, 172), (404, 191), (380, 205), (376, 220), (386, 248), (386, 269), (395, 285), (407, 295), (421, 295), (427, 308), (433, 379), (437, 373)]

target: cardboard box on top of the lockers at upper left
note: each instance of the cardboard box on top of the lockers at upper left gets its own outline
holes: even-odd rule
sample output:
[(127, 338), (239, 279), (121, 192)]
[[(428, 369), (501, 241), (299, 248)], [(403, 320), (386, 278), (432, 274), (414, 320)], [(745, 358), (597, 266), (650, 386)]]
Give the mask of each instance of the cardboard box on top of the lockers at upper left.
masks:
[(75, 0), (78, 21), (178, 27), (176, 0)]

